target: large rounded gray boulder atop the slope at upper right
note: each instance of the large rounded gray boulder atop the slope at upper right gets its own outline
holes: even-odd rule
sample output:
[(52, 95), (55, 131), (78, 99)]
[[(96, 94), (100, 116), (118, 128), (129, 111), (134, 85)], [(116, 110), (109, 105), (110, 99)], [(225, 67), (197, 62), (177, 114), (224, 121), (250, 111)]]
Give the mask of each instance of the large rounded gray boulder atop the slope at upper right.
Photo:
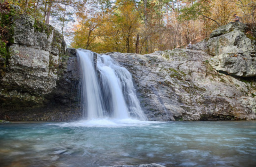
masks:
[(231, 22), (211, 34), (208, 41), (209, 59), (215, 70), (227, 72), (233, 76), (256, 76), (255, 41), (245, 34), (246, 26)]

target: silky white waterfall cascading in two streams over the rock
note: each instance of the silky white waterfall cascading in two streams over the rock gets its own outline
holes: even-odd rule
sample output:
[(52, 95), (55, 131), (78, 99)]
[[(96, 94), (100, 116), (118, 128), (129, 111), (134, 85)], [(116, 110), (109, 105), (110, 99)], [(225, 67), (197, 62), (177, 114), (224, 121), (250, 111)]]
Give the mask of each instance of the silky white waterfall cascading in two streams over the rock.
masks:
[(135, 94), (131, 73), (109, 55), (77, 49), (82, 76), (83, 115), (92, 119), (147, 120)]

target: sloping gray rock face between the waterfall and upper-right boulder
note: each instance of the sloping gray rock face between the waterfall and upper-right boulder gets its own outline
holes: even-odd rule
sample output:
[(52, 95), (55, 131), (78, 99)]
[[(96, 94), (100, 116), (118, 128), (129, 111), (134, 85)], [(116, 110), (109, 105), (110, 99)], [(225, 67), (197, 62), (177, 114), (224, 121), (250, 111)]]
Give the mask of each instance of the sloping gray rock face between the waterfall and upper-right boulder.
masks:
[(256, 119), (255, 79), (218, 73), (203, 51), (108, 54), (132, 73), (150, 121)]

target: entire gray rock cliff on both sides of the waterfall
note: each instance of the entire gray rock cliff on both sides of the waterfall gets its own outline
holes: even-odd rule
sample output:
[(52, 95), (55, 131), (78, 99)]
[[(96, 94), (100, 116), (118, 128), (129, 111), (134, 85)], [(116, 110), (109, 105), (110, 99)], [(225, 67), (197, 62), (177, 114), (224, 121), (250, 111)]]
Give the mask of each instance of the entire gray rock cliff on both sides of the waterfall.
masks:
[[(0, 119), (82, 117), (75, 49), (53, 27), (12, 17), (12, 42), (0, 55)], [(255, 120), (255, 40), (230, 23), (191, 49), (107, 53), (133, 75), (150, 121)]]

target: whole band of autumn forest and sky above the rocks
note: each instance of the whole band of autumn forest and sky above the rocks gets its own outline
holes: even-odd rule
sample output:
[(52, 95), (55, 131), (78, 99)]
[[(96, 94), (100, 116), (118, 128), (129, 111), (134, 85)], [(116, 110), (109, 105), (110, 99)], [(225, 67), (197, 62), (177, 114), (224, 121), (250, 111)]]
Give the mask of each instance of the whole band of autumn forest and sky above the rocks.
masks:
[[(152, 53), (207, 40), (237, 14), (255, 24), (256, 0), (1, 0), (53, 24), (70, 47)], [(1, 12), (3, 10), (1, 9)], [(2, 20), (1, 20), (2, 21)]]

